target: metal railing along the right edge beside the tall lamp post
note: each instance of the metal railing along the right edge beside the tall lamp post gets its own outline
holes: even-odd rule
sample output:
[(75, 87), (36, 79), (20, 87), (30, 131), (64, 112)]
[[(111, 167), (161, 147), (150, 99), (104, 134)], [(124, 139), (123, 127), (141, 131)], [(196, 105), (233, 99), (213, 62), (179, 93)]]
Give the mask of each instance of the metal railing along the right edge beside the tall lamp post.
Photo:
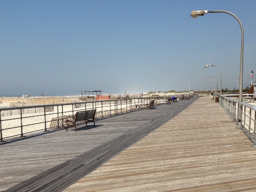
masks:
[[(249, 94), (244, 94), (243, 97), (245, 96), (250, 97)], [(220, 95), (218, 95), (218, 97), (220, 97)], [(222, 95), (219, 103), (226, 113), (238, 124), (238, 97), (237, 99), (230, 97), (234, 97), (234, 95)], [(246, 100), (246, 98), (244, 99)], [(251, 102), (253, 102), (253, 97)], [(237, 128), (242, 129), (247, 138), (252, 141), (252, 146), (256, 147), (256, 106), (247, 102), (241, 102), (241, 105), (243, 106), (242, 124), (241, 127), (237, 126)]]

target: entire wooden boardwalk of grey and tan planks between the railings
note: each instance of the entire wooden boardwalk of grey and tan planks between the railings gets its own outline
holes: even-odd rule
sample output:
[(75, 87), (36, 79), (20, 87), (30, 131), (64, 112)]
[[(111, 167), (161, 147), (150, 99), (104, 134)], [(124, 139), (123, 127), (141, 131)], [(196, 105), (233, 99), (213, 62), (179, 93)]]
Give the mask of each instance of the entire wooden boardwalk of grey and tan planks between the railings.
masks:
[[(67, 181), (55, 191), (255, 191), (256, 148), (210, 97), (186, 108), (192, 101), (102, 119), (97, 127), (77, 132), (60, 130), (1, 145), (0, 190), (14, 186), (7, 191), (18, 191), (18, 183), (33, 185), (26, 181), (77, 161), (79, 166), (95, 163), (98, 169), (83, 177), (76, 171), (73, 176), (81, 180)], [(186, 109), (179, 113), (182, 107)], [(96, 160), (81, 163), (100, 149)], [(100, 162), (108, 154), (110, 160)], [(52, 182), (58, 180), (52, 177)], [(31, 191), (54, 191), (52, 182)]]

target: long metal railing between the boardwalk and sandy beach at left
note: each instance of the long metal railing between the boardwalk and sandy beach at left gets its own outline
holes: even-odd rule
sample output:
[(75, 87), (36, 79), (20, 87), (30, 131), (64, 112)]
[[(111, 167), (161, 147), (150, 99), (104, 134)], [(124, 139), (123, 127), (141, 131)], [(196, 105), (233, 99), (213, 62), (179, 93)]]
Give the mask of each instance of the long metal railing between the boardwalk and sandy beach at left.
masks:
[(144, 109), (150, 100), (155, 100), (155, 105), (162, 105), (169, 97), (142, 97), (0, 108), (0, 141), (59, 129), (65, 126), (66, 117), (75, 115), (77, 111), (97, 109), (95, 118), (99, 119)]

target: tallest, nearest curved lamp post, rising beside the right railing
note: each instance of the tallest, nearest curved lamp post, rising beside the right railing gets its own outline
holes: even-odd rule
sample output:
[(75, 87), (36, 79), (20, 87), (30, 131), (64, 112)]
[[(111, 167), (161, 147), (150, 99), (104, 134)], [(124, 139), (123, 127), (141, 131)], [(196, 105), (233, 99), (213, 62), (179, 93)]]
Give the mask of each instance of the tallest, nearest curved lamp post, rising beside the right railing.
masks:
[(236, 17), (235, 14), (230, 13), (228, 11), (207, 11), (207, 10), (201, 10), (201, 11), (192, 11), (190, 16), (193, 18), (197, 18), (198, 16), (203, 16), (204, 14), (207, 13), (227, 13), (233, 16), (239, 23), (241, 27), (241, 32), (242, 32), (242, 38), (241, 38), (241, 57), (240, 57), (240, 76), (239, 76), (239, 102), (238, 102), (238, 127), (242, 126), (241, 118), (242, 118), (242, 111), (243, 111), (243, 106), (241, 105), (243, 98), (243, 68), (244, 68), (244, 63), (243, 63), (243, 58), (244, 58), (244, 28), (241, 23), (241, 21)]

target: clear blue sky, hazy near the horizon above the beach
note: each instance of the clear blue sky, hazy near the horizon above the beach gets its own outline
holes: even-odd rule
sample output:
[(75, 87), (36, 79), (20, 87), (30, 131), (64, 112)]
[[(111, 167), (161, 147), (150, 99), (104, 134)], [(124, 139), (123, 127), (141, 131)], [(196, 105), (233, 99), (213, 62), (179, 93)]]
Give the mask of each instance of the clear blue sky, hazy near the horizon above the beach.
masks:
[[(237, 89), (256, 80), (255, 0), (0, 1), (0, 95)], [(215, 78), (211, 79), (215, 81)]]

